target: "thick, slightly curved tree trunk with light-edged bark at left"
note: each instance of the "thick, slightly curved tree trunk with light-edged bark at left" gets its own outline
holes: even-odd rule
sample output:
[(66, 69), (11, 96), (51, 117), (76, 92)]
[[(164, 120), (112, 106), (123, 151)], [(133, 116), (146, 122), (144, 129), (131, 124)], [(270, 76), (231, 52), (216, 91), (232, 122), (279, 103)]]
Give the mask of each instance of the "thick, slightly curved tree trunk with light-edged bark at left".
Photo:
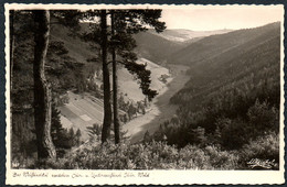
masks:
[(34, 123), (38, 141), (38, 158), (54, 158), (55, 147), (51, 139), (51, 89), (45, 78), (45, 58), (50, 34), (50, 12), (33, 11), (34, 30)]

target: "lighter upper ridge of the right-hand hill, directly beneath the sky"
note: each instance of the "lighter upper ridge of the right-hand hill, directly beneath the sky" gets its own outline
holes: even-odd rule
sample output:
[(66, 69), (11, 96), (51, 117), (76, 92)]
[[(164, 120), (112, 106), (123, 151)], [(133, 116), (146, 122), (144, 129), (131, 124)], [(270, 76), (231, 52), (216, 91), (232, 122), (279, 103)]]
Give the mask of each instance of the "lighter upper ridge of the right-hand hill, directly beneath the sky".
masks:
[(213, 59), (222, 53), (234, 51), (235, 47), (237, 48), (236, 52), (241, 52), (245, 50), (245, 46), (257, 45), (279, 34), (279, 25), (277, 22), (256, 29), (237, 30), (204, 37), (171, 54), (168, 63), (191, 66)]

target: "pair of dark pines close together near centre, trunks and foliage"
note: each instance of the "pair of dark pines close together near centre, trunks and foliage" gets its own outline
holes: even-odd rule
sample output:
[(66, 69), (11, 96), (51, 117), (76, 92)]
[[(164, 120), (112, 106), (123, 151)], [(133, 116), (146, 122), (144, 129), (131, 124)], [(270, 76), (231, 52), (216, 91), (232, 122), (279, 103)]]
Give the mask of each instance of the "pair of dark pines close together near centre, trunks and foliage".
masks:
[[(114, 28), (107, 25), (107, 18), (113, 18)], [(84, 40), (94, 41), (95, 44), (100, 44), (102, 64), (103, 64), (103, 85), (104, 85), (104, 122), (102, 129), (102, 143), (106, 142), (110, 136), (111, 127), (111, 102), (110, 102), (110, 81), (108, 68), (108, 52), (111, 54), (113, 62), (113, 91), (114, 91), (114, 130), (115, 142), (119, 143), (119, 120), (117, 107), (117, 63), (121, 63), (125, 67), (135, 75), (140, 82), (142, 94), (151, 100), (157, 91), (150, 89), (150, 70), (146, 69), (146, 65), (137, 64), (137, 55), (132, 52), (136, 47), (136, 42), (132, 34), (140, 31), (146, 31), (146, 25), (156, 29), (157, 32), (164, 30), (164, 23), (158, 19), (161, 15), (161, 10), (89, 10), (83, 12), (83, 18), (94, 22), (96, 16), (99, 16), (99, 26), (94, 24), (93, 32), (85, 33)], [(111, 32), (114, 33), (111, 33)], [(98, 34), (99, 33), (99, 34)], [(95, 47), (95, 46), (94, 46)], [(97, 47), (95, 47), (97, 48)], [(116, 55), (118, 55), (116, 59)]]

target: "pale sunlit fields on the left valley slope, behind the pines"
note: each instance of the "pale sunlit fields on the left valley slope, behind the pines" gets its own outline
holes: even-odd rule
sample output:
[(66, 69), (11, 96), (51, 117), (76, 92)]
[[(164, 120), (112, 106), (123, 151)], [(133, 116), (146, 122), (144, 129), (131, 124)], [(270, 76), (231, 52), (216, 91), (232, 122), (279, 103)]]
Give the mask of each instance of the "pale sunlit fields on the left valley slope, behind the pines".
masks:
[[(161, 75), (169, 75), (169, 70), (152, 62), (140, 58), (138, 63), (147, 64), (147, 69), (151, 70), (151, 88), (160, 92), (166, 84), (159, 80)], [(111, 81), (111, 79), (110, 79)], [(134, 103), (145, 99), (137, 79), (124, 67), (118, 70), (118, 86), (119, 92), (125, 95), (125, 99)], [(104, 103), (103, 99), (93, 97), (91, 94), (77, 95), (68, 91), (68, 103), (60, 107), (61, 122), (63, 128), (74, 130), (79, 129), (82, 140), (88, 139), (87, 127), (94, 123), (102, 124), (104, 119)], [(119, 111), (124, 113), (123, 111)]]

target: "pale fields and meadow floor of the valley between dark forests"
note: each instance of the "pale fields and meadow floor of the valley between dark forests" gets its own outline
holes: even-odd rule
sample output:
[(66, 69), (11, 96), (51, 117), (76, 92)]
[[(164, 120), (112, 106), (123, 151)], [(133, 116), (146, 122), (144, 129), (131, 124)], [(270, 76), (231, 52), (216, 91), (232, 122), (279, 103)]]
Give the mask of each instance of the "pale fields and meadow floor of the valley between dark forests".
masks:
[[(176, 114), (177, 106), (170, 105), (169, 100), (189, 80), (185, 75), (188, 66), (168, 65), (168, 68), (166, 68), (145, 58), (140, 58), (138, 63), (147, 64), (147, 68), (151, 70), (151, 88), (157, 90), (159, 95), (149, 103), (146, 114), (137, 113), (135, 119), (123, 124), (123, 131), (127, 131), (126, 135), (130, 136), (131, 142), (140, 141), (146, 131), (152, 134), (161, 122)], [(167, 82), (159, 80), (163, 75), (168, 76)], [(145, 96), (139, 89), (139, 85), (127, 69), (120, 68), (118, 77), (119, 91), (125, 96), (126, 101), (132, 103), (144, 101)], [(98, 99), (88, 92), (75, 94), (73, 91), (68, 91), (67, 97), (68, 103), (59, 108), (61, 123), (65, 129), (73, 128), (74, 131), (79, 129), (82, 132), (81, 139), (85, 142), (89, 139), (87, 127), (92, 127), (94, 123), (102, 125), (103, 123), (103, 99)], [(125, 112), (119, 110), (119, 114), (125, 114)]]

